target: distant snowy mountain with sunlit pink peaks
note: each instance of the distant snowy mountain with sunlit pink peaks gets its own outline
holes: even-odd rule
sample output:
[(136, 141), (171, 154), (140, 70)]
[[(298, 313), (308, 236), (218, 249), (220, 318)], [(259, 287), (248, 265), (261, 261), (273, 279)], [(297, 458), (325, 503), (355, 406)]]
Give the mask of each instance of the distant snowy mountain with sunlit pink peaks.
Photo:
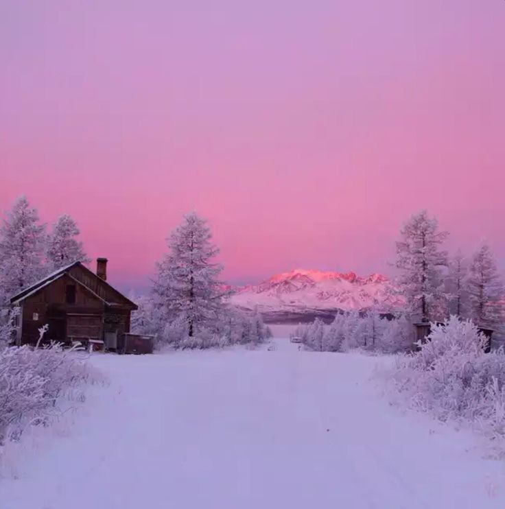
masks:
[(345, 311), (373, 307), (401, 308), (401, 297), (386, 276), (357, 276), (354, 272), (296, 269), (276, 274), (259, 285), (239, 287), (231, 303), (260, 312)]

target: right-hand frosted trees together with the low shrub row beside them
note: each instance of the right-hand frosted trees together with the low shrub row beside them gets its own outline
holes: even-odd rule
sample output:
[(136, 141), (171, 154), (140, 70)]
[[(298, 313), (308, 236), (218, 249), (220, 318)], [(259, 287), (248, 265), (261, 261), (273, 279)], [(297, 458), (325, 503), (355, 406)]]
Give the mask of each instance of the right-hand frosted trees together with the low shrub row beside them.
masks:
[(449, 315), (469, 318), (480, 327), (504, 329), (504, 286), (491, 249), (482, 245), (471, 259), (460, 251), (450, 259), (443, 243), (448, 233), (426, 211), (412, 215), (397, 242), (397, 280), (405, 309), (393, 320), (378, 313), (343, 313), (333, 324), (320, 320), (294, 333), (316, 351), (351, 348), (393, 353), (412, 348), (413, 322), (439, 321)]

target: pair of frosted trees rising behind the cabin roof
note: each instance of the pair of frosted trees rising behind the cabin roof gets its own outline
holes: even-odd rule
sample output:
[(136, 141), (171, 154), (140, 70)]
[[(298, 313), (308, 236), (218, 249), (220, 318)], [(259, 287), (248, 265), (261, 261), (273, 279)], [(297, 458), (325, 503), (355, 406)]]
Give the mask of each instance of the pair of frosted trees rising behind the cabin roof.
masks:
[(89, 261), (79, 229), (62, 215), (49, 233), (36, 209), (22, 196), (0, 226), (0, 305), (45, 274), (73, 261)]

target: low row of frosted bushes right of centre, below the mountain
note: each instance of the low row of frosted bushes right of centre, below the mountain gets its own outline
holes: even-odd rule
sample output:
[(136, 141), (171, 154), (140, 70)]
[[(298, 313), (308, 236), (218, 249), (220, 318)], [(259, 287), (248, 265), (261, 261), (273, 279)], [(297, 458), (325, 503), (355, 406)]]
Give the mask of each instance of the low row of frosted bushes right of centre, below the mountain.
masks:
[(338, 314), (327, 325), (319, 318), (301, 324), (293, 336), (301, 338), (314, 351), (344, 352), (361, 348), (368, 351), (397, 353), (412, 346), (412, 324), (405, 316), (386, 320), (377, 313)]

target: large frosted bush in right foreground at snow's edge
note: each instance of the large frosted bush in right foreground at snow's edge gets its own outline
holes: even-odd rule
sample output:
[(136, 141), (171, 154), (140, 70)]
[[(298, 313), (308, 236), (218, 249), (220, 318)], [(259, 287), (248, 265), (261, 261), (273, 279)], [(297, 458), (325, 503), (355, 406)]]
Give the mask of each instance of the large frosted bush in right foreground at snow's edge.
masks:
[(395, 388), (442, 421), (471, 421), (504, 436), (505, 355), (484, 353), (485, 342), (470, 320), (451, 316), (433, 325), (420, 351), (399, 359), (390, 373)]

